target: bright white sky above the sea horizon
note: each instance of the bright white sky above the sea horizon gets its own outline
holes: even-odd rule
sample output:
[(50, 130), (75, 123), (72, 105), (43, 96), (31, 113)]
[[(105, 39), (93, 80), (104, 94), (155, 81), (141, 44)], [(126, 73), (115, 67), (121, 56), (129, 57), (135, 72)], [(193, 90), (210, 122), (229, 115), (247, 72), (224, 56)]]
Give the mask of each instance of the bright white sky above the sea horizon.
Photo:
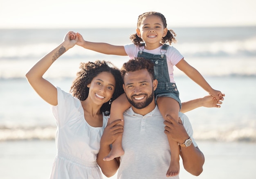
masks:
[(256, 26), (256, 0), (0, 0), (0, 29), (134, 27), (157, 11), (168, 27)]

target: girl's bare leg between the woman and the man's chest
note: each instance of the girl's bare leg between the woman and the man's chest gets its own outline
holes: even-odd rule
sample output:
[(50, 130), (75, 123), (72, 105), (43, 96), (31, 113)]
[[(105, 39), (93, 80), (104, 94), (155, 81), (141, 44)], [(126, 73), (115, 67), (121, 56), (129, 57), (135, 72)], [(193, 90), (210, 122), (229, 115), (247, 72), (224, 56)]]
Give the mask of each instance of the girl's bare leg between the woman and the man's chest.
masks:
[[(124, 112), (130, 107), (130, 103), (126, 98), (125, 93), (121, 94), (117, 99), (115, 99), (110, 108), (110, 123), (117, 119), (124, 120)], [(124, 122), (121, 123), (124, 125)], [(122, 148), (122, 136), (117, 137), (117, 139), (112, 143), (112, 149), (109, 152), (108, 156), (104, 157), (103, 160), (110, 161), (116, 157), (120, 157), (124, 154)]]

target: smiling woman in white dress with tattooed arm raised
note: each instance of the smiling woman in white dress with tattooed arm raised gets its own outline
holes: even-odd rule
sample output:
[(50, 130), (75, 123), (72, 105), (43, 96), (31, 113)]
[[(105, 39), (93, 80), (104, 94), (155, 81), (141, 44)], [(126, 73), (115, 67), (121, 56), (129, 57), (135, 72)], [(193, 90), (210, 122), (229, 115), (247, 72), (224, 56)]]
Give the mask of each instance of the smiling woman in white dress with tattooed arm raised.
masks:
[(110, 101), (124, 93), (119, 69), (110, 62), (99, 60), (81, 63), (71, 94), (43, 78), (54, 61), (76, 45), (77, 40), (74, 32), (68, 32), (63, 43), (41, 58), (26, 74), (33, 89), (51, 105), (56, 119), (57, 155), (51, 179), (103, 179), (99, 166), (108, 177), (119, 167), (114, 160), (106, 163), (101, 159), (99, 166), (97, 164), (101, 135), (108, 122), (108, 116), (103, 113), (110, 111)]

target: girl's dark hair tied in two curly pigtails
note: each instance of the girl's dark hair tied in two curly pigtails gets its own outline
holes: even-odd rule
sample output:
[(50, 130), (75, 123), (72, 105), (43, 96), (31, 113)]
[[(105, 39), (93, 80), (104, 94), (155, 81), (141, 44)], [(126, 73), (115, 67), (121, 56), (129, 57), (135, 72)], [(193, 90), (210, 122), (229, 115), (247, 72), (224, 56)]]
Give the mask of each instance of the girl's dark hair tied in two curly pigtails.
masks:
[[(164, 24), (164, 28), (167, 27), (167, 23), (166, 23), (166, 19), (165, 19), (164, 15), (159, 12), (151, 11), (151, 12), (145, 12), (145, 13), (139, 15), (138, 22), (137, 22), (137, 28), (140, 27), (142, 20), (144, 20), (144, 18), (146, 18), (147, 16), (158, 16), (159, 18), (161, 18), (161, 20)], [(164, 36), (161, 39), (160, 43), (162, 43), (162, 44), (169, 43), (169, 45), (171, 45), (172, 42), (174, 42), (174, 43), (176, 42), (175, 37), (176, 37), (175, 32), (172, 29), (169, 29), (167, 31), (166, 36)], [(136, 45), (136, 46), (141, 46), (144, 43), (143, 39), (140, 38), (139, 36), (137, 36), (137, 34), (132, 34), (130, 36), (130, 40), (132, 40), (132, 43), (134, 43), (134, 45)]]

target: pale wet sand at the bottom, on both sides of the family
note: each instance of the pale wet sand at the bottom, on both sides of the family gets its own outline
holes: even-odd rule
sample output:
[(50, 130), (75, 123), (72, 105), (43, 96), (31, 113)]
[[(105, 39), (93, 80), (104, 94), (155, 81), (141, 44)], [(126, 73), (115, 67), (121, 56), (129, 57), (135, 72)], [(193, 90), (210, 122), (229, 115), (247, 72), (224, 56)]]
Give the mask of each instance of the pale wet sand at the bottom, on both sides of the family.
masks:
[[(254, 176), (256, 143), (198, 141), (198, 145), (205, 156), (204, 171), (195, 177), (184, 170), (180, 160), (180, 179), (252, 179)], [(54, 141), (0, 142), (0, 148), (1, 179), (49, 178), (56, 154)], [(116, 175), (109, 179), (115, 179)]]

